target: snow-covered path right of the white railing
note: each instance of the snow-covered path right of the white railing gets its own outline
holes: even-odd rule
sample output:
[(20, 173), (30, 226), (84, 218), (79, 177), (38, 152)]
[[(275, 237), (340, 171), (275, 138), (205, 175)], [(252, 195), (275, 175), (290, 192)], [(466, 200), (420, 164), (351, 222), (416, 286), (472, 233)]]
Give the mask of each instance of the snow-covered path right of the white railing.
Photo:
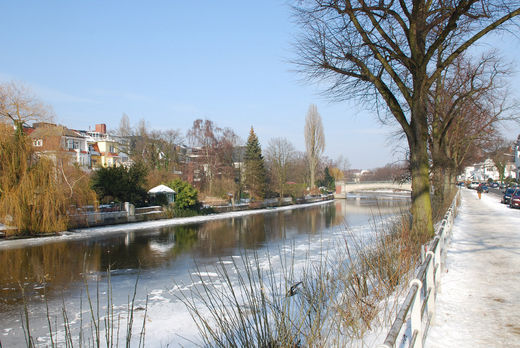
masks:
[(520, 347), (520, 210), (461, 193), (425, 347)]

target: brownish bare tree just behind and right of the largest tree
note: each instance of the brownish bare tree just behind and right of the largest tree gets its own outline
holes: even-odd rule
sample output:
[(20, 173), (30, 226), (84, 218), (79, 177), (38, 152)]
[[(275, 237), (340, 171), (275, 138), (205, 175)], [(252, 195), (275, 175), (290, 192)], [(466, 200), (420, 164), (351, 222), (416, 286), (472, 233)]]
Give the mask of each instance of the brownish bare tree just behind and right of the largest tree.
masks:
[(435, 81), (430, 91), (428, 141), (438, 202), (451, 196), (464, 158), (457, 150), (491, 141), (500, 122), (518, 118), (503, 82), (509, 74), (510, 69), (491, 53), (476, 63), (461, 56)]

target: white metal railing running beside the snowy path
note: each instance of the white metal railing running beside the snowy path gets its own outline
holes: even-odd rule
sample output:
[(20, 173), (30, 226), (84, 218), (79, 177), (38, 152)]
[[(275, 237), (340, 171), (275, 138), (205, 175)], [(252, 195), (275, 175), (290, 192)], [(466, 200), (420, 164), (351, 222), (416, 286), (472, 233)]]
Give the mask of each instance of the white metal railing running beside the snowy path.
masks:
[(435, 314), (435, 299), (440, 290), (440, 276), (446, 262), (453, 219), (460, 190), (444, 215), (435, 238), (421, 250), (422, 263), (410, 281), (408, 294), (399, 307), (385, 342), (379, 348), (422, 348)]

